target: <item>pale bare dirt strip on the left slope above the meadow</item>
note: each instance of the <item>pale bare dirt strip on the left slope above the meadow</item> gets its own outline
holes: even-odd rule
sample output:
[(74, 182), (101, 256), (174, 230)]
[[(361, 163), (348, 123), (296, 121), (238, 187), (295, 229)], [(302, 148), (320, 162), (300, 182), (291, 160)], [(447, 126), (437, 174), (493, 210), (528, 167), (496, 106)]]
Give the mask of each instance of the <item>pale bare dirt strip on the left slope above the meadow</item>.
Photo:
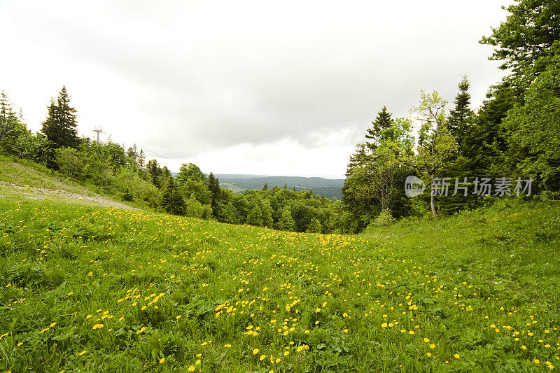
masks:
[[(113, 207), (115, 209), (138, 210), (134, 207), (121, 204), (120, 202), (115, 202), (101, 195), (80, 195), (78, 193), (67, 192), (66, 190), (40, 188), (30, 185), (9, 183), (8, 181), (0, 181), (0, 190), (3, 188), (9, 188), (17, 194), (29, 199), (49, 199), (48, 197), (50, 196), (57, 197), (69, 203), (85, 203)], [(3, 196), (0, 194), (0, 197)]]

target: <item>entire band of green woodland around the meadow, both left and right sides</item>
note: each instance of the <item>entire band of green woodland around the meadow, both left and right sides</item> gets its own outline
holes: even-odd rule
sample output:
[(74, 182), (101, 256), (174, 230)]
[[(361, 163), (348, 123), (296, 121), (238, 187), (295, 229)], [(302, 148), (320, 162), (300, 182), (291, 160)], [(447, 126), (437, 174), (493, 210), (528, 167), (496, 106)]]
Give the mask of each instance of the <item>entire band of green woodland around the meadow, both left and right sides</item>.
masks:
[[(471, 107), (468, 77), (449, 104), (437, 92), (421, 92), (410, 118), (393, 118), (386, 107), (350, 158), (342, 200), (311, 191), (267, 188), (234, 193), (213, 174), (183, 164), (175, 177), (148, 160), (137, 146), (80, 138), (76, 109), (62, 87), (40, 132), (31, 133), (8, 95), (0, 97), (0, 153), (45, 164), (54, 172), (93, 185), (126, 201), (183, 216), (294, 232), (360, 232), (395, 218), (437, 217), (513, 197), (516, 180), (533, 180), (531, 196), (557, 199), (560, 192), (560, 3), (519, 0), (500, 27), (480, 43), (508, 75)], [(405, 178), (428, 185), (420, 197), (405, 196)], [(449, 178), (449, 196), (430, 186)], [(505, 194), (479, 188), (477, 178), (499, 178)], [(468, 195), (451, 197), (456, 181)], [(525, 190), (523, 195), (527, 195)]]

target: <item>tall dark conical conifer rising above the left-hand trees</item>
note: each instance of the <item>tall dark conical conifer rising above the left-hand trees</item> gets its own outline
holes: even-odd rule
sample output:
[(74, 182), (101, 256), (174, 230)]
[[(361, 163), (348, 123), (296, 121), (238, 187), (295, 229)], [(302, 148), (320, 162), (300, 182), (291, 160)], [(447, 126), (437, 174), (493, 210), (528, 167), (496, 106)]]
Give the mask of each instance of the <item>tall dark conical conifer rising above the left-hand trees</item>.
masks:
[(52, 99), (48, 106), (48, 115), (43, 122), (41, 132), (47, 137), (52, 148), (69, 146), (76, 148), (80, 143), (76, 129), (76, 109), (70, 106), (70, 97), (66, 87), (58, 94), (58, 99)]

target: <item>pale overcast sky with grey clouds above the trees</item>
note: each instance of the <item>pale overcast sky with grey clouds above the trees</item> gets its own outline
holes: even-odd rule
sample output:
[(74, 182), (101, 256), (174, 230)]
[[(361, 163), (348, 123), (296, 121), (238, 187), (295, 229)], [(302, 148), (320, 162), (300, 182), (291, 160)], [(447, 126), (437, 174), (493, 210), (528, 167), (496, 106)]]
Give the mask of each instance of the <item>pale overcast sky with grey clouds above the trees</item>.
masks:
[(173, 171), (340, 178), (382, 106), (452, 101), (463, 73), (482, 102), (510, 2), (0, 0), (0, 90), (38, 130), (66, 85), (81, 135)]

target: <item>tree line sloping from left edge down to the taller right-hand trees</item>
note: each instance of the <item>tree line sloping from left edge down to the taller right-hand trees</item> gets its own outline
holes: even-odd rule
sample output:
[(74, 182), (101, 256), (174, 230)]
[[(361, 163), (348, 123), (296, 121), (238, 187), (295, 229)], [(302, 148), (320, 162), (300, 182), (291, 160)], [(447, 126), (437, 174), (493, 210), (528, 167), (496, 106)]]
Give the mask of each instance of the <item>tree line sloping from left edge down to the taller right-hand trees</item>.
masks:
[(335, 232), (340, 202), (312, 191), (268, 188), (242, 194), (221, 188), (214, 174), (193, 163), (176, 176), (136, 145), (78, 137), (76, 109), (62, 87), (47, 108), (41, 131), (31, 134), (5, 92), (0, 96), (0, 153), (45, 164), (53, 171), (139, 206), (181, 216), (291, 232)]

